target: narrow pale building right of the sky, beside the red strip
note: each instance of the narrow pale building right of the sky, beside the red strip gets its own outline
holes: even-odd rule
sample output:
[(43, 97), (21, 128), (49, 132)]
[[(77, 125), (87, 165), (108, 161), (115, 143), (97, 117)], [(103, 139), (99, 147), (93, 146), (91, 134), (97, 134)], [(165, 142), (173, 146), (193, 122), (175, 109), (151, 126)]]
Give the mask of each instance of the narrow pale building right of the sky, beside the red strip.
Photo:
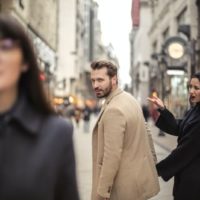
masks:
[(151, 8), (147, 0), (140, 1), (140, 23), (130, 33), (132, 93), (142, 105), (149, 96), (149, 60), (151, 45), (148, 32), (151, 26)]

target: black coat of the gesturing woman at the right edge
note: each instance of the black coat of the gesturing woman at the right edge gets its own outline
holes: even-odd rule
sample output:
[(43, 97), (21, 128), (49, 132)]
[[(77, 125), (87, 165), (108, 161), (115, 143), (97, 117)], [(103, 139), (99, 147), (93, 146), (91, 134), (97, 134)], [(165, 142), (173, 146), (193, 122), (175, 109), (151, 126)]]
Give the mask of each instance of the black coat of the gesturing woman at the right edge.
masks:
[(178, 136), (178, 146), (157, 164), (158, 174), (174, 180), (175, 200), (200, 199), (200, 105), (191, 108), (176, 120), (167, 110), (161, 111), (156, 125), (163, 131)]

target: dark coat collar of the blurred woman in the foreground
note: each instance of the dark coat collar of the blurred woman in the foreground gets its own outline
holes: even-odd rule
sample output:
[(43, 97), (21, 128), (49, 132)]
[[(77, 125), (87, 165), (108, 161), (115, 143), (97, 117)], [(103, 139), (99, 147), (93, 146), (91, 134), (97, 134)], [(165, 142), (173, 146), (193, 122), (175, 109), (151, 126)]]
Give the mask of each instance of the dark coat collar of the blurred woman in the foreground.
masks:
[(27, 133), (35, 135), (39, 132), (44, 116), (29, 104), (25, 96), (21, 96), (10, 113), (10, 119), (19, 123)]

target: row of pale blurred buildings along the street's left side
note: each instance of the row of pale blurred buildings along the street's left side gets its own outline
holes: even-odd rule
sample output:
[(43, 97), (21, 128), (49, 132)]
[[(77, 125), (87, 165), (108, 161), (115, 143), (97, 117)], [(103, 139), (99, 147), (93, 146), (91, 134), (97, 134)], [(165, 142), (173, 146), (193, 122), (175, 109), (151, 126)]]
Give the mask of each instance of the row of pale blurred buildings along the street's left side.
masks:
[(32, 38), (49, 97), (94, 98), (90, 63), (117, 63), (112, 46), (101, 42), (98, 8), (95, 0), (0, 0), (0, 12), (17, 18)]

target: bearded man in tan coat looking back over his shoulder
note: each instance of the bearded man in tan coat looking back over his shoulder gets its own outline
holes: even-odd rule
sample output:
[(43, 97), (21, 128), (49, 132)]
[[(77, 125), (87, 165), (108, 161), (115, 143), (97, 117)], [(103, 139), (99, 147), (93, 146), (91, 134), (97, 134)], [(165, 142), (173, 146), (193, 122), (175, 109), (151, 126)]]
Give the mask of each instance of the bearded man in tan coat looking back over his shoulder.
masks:
[(146, 200), (159, 191), (140, 106), (118, 88), (117, 67), (91, 64), (97, 98), (105, 98), (93, 131), (92, 200)]

